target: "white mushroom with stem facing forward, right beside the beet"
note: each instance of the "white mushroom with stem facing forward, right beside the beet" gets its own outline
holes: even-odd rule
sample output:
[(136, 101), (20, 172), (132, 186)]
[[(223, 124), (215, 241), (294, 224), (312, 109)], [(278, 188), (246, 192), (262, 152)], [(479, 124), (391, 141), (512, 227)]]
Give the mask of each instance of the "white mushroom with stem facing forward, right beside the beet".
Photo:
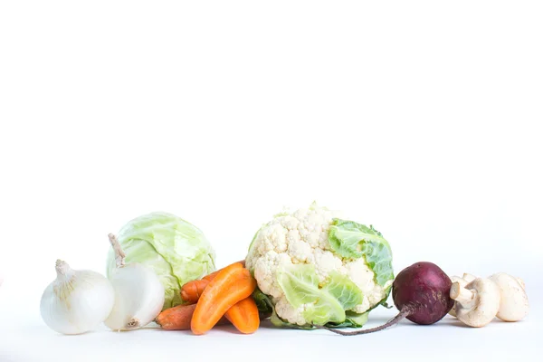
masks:
[(462, 287), (452, 283), (451, 298), (456, 300), (456, 318), (471, 327), (483, 327), (500, 309), (500, 288), (490, 279), (477, 278)]

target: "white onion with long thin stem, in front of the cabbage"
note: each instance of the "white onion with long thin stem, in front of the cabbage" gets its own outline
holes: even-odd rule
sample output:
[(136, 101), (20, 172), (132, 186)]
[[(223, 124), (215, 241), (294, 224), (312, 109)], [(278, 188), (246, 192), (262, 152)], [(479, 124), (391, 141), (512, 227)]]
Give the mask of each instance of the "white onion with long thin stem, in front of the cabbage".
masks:
[(148, 267), (138, 262), (125, 265), (124, 252), (112, 234), (110, 243), (117, 261), (117, 268), (110, 275), (115, 304), (104, 324), (113, 330), (144, 327), (162, 310), (164, 286), (157, 274)]

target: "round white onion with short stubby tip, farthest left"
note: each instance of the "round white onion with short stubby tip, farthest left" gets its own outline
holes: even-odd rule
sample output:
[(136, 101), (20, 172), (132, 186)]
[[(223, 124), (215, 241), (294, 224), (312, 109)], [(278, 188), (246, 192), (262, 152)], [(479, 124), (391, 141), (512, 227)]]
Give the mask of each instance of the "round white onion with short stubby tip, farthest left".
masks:
[(45, 324), (63, 334), (95, 329), (108, 318), (114, 292), (110, 281), (96, 271), (74, 271), (57, 260), (57, 278), (43, 291), (40, 311)]

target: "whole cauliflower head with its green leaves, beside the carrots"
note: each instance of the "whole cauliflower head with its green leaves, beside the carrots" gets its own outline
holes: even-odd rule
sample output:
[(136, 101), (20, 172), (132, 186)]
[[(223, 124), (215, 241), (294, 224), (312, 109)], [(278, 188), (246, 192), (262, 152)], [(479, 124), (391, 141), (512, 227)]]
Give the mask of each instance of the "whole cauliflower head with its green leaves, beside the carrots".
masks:
[(245, 258), (278, 325), (360, 327), (394, 279), (390, 246), (372, 226), (311, 205), (277, 215)]

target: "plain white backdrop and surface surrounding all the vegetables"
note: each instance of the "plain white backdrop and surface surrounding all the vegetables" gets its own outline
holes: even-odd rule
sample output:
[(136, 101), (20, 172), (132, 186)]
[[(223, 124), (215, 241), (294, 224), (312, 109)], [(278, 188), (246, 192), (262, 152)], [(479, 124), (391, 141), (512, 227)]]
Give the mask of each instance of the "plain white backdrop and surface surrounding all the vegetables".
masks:
[[(1, 2), (0, 361), (537, 359), (542, 18), (538, 1)], [(133, 217), (185, 218), (224, 266), (313, 200), (374, 224), (395, 271), (524, 278), (529, 317), (356, 338), (43, 324), (55, 260), (104, 272)]]

